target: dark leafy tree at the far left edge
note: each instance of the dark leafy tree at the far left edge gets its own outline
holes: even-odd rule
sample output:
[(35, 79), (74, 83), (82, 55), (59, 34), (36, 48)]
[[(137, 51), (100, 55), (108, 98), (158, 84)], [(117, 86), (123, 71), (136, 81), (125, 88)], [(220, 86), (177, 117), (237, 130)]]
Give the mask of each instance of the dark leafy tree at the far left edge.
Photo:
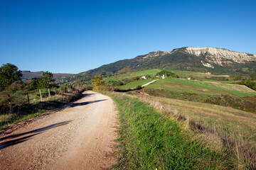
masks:
[(21, 81), (21, 70), (14, 64), (3, 64), (0, 67), (0, 89), (3, 90), (7, 86), (10, 86), (15, 81)]

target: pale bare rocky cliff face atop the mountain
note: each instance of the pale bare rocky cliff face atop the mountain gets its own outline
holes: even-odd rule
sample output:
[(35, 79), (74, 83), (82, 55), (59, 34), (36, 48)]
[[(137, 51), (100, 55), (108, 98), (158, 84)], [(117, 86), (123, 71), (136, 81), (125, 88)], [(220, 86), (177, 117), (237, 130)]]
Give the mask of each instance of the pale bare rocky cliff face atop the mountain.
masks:
[(231, 66), (237, 63), (256, 63), (256, 55), (245, 52), (233, 52), (214, 47), (185, 47), (184, 52), (189, 55), (204, 56), (210, 64)]

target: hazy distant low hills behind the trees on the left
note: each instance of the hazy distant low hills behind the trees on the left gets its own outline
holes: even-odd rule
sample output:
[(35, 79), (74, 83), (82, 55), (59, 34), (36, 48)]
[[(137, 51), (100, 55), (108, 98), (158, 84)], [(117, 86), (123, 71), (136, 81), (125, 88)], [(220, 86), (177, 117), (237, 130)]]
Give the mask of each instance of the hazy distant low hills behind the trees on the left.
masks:
[[(43, 71), (41, 72), (31, 72), (31, 71), (21, 71), (22, 72), (22, 80), (27, 81), (33, 78), (40, 78), (43, 76)], [(67, 77), (70, 77), (74, 74), (67, 74), (67, 73), (53, 73), (53, 79), (58, 82), (64, 81)]]

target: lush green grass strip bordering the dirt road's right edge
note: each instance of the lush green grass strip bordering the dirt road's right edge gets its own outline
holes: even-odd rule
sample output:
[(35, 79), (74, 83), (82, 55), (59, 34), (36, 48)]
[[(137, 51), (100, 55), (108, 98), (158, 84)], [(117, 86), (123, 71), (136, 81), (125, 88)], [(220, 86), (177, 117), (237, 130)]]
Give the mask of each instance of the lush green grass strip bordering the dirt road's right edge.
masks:
[(192, 141), (181, 126), (135, 98), (108, 93), (119, 110), (119, 157), (113, 169), (232, 169), (224, 152)]

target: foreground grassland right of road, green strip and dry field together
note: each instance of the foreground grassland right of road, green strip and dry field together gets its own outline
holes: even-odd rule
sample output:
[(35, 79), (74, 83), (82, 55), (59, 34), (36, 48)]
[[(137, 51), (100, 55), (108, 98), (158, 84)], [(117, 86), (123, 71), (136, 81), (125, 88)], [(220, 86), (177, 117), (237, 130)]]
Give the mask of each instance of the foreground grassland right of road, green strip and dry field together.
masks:
[(142, 94), (108, 95), (121, 123), (113, 169), (256, 168), (253, 113)]

